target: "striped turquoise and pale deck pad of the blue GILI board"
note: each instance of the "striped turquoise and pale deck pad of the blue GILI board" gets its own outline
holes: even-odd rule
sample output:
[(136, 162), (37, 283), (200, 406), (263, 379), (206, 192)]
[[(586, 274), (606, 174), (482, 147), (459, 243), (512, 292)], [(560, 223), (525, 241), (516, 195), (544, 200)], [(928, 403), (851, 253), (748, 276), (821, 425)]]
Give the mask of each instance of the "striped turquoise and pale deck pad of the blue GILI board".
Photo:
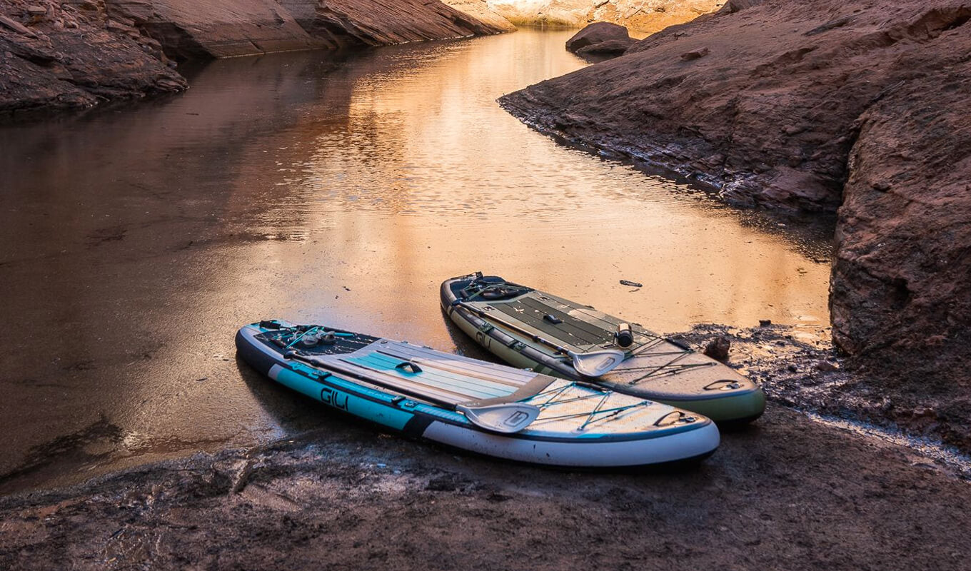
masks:
[[(318, 360), (370, 377), (378, 385), (450, 404), (503, 400), (538, 376), (530, 371), (388, 340), (353, 353), (321, 356)], [(396, 368), (408, 362), (418, 365), (420, 372)]]

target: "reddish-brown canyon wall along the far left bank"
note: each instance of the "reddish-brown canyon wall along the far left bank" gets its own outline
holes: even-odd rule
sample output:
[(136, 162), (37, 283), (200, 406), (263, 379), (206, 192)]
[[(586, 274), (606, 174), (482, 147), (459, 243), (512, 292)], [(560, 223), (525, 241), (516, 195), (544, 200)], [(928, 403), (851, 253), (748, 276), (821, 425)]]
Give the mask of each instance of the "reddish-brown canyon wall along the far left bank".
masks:
[(84, 109), (186, 87), (187, 59), (508, 31), (438, 0), (0, 0), (0, 113)]

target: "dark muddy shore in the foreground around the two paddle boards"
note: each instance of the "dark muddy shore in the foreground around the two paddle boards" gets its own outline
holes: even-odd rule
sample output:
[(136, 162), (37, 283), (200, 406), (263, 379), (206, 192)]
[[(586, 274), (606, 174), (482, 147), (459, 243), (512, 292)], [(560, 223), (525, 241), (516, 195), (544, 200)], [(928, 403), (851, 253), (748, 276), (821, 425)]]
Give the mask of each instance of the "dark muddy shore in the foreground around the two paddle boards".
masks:
[(954, 568), (971, 555), (967, 465), (790, 408), (890, 426), (821, 333), (699, 325), (680, 336), (694, 345), (727, 337), (729, 362), (770, 396), (762, 419), (724, 432), (694, 468), (609, 474), (494, 462), (319, 405), (332, 418), (323, 429), (0, 498), (0, 565), (445, 569), (461, 556), (544, 569)]

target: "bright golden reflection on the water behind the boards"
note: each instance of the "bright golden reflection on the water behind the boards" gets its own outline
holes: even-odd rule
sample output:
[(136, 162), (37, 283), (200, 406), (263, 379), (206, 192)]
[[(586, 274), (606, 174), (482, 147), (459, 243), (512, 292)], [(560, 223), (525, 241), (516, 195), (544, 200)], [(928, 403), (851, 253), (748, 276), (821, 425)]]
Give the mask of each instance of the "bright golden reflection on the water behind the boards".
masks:
[[(498, 107), (505, 92), (584, 65), (551, 36), (379, 50), (325, 88), (324, 100), (349, 102), (347, 124), (286, 165), (287, 201), (266, 218), (316, 239), (299, 258), (272, 245), (284, 265), (330, 260), (321, 278), (340, 297), (306, 309), (448, 349), (436, 288), (482, 270), (662, 331), (824, 323), (828, 266), (790, 240), (685, 185), (559, 146)], [(356, 319), (362, 308), (368, 319)]]

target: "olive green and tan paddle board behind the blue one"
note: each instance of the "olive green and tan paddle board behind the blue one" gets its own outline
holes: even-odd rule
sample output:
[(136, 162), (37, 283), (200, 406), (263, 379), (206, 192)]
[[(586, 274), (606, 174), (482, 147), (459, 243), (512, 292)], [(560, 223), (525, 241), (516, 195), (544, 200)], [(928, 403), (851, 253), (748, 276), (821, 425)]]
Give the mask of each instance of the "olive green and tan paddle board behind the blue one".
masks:
[(442, 307), (489, 352), (540, 373), (680, 407), (723, 424), (765, 410), (761, 387), (636, 323), (481, 273), (446, 280)]

